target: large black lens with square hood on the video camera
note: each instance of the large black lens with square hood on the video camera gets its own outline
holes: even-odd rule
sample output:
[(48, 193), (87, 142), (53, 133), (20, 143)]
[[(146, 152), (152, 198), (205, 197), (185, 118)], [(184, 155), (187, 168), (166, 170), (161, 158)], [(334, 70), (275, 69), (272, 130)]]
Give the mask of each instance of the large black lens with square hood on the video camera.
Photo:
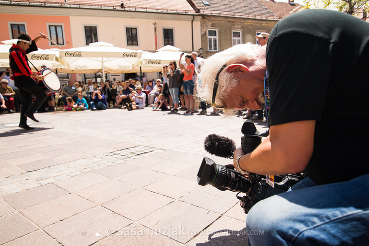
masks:
[(218, 165), (209, 158), (204, 157), (197, 173), (197, 183), (205, 186), (211, 184), (219, 190), (230, 190), (246, 193), (250, 189), (250, 181), (241, 173)]

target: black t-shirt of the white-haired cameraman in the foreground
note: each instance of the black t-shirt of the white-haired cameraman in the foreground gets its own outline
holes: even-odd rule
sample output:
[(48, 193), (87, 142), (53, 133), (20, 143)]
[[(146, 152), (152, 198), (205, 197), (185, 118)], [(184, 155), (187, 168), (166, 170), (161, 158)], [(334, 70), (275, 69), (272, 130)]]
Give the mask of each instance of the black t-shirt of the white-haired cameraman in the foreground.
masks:
[(304, 10), (269, 37), (271, 125), (316, 120), (307, 175), (317, 184), (369, 173), (369, 24), (346, 13)]

